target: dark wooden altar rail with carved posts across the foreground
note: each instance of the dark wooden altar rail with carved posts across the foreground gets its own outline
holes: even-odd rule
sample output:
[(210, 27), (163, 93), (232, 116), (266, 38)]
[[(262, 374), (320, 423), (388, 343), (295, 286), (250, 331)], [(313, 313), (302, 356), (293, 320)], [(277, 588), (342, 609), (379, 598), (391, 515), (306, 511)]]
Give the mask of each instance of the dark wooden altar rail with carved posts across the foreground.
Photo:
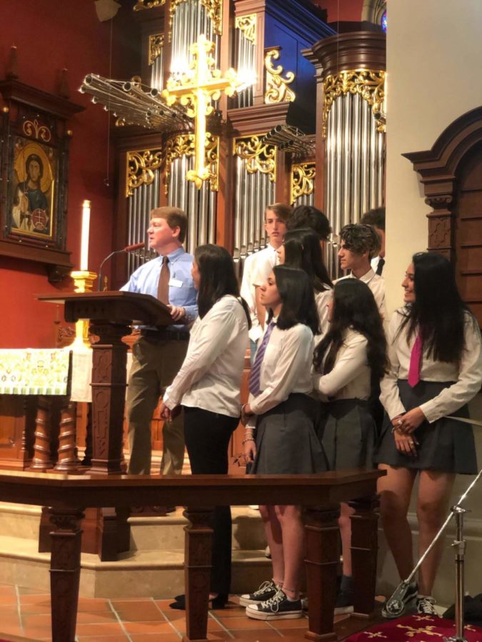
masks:
[[(186, 641), (206, 641), (214, 506), (303, 504), (306, 507), (306, 578), (310, 640), (336, 640), (338, 514), (350, 501), (354, 610), (373, 613), (377, 545), (376, 470), (353, 469), (313, 475), (105, 475), (72, 476), (0, 472), (0, 498), (20, 504), (51, 506), (52, 640), (75, 638), (81, 561), (83, 511), (90, 506), (188, 506), (185, 584)], [(365, 498), (365, 499), (360, 499)]]

